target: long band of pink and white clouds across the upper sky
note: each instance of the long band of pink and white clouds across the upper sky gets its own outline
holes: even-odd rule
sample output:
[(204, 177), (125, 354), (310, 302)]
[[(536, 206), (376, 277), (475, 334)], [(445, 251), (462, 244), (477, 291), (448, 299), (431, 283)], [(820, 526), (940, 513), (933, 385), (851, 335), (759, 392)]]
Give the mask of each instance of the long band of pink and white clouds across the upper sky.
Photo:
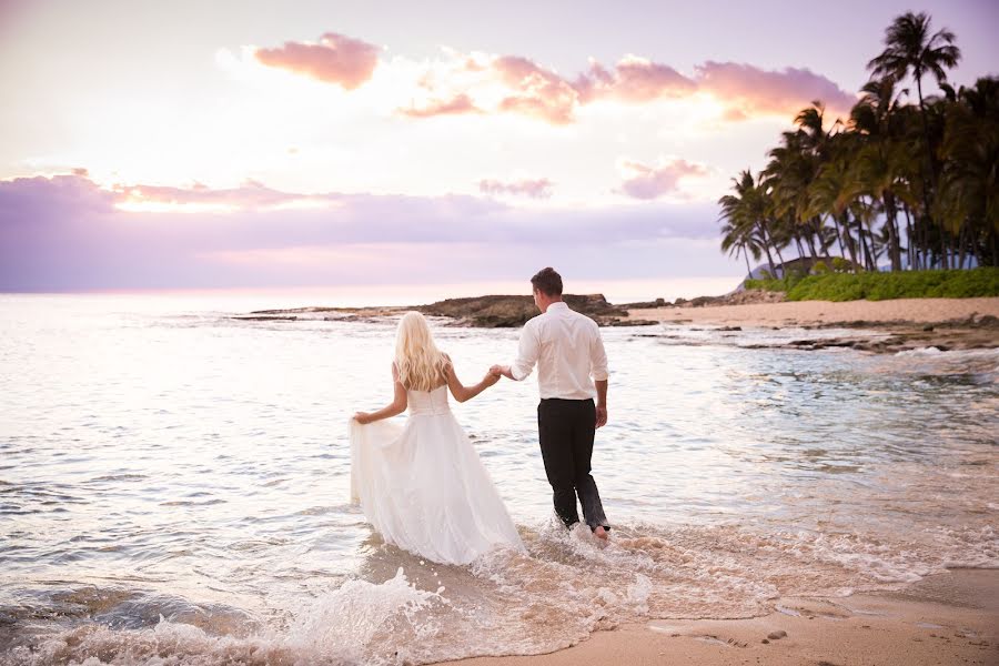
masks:
[[(256, 49), (265, 65), (286, 69), (353, 90), (377, 75), (380, 50), (336, 33), (320, 43), (286, 42)], [(722, 107), (720, 118), (739, 122), (760, 115), (793, 118), (813, 100), (846, 114), (856, 97), (806, 68), (765, 70), (753, 64), (706, 61), (686, 75), (669, 64), (628, 54), (613, 67), (592, 60), (573, 79), (523, 56), (461, 53), (443, 49), (443, 59), (417, 62), (405, 57), (385, 60), (380, 87), (397, 98), (396, 112), (413, 119), (440, 115), (514, 113), (552, 125), (577, 120), (582, 107), (612, 100), (642, 105), (709, 94)], [(415, 99), (408, 104), (402, 100)]]

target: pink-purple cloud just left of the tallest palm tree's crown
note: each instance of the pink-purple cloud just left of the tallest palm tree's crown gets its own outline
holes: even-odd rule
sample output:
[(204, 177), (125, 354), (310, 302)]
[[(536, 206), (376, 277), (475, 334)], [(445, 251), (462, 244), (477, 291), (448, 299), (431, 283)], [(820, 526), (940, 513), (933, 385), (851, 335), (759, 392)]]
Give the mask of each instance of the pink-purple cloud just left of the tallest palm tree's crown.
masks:
[(705, 62), (696, 68), (698, 89), (730, 105), (728, 120), (758, 114), (794, 117), (811, 100), (834, 113), (846, 114), (857, 98), (808, 69), (763, 70), (736, 62)]

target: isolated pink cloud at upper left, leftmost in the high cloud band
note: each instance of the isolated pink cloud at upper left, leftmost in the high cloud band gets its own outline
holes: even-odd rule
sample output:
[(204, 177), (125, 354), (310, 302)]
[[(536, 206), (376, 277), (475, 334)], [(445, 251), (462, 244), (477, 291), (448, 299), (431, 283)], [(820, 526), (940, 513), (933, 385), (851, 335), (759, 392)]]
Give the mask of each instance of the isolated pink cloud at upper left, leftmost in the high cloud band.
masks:
[(268, 65), (336, 83), (353, 90), (371, 79), (379, 61), (379, 48), (335, 32), (320, 43), (285, 42), (278, 49), (258, 49), (256, 59)]

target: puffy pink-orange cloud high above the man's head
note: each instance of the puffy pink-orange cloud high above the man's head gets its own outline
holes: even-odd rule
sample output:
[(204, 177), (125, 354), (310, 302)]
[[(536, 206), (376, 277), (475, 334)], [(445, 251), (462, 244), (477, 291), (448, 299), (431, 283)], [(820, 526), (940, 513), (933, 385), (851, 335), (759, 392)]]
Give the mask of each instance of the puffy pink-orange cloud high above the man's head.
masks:
[(574, 120), (579, 94), (558, 74), (515, 56), (497, 58), (493, 69), (513, 92), (500, 102), (501, 111), (532, 115), (556, 125)]

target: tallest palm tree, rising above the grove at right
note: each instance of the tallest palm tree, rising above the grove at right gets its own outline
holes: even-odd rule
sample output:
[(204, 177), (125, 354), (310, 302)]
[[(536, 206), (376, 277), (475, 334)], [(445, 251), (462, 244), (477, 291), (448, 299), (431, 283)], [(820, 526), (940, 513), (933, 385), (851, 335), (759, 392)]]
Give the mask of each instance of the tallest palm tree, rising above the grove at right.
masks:
[[(953, 44), (953, 32), (946, 28), (930, 34), (930, 18), (925, 12), (906, 12), (896, 18), (885, 31), (885, 50), (867, 63), (871, 79), (891, 77), (901, 81), (907, 74), (911, 74), (916, 81), (919, 113), (922, 118), (924, 154), (932, 181), (937, 179), (937, 165), (922, 97), (922, 77), (930, 73), (938, 84), (947, 81), (944, 68), (952, 68), (961, 59), (961, 50)], [(922, 183), (922, 200), (926, 214), (929, 214), (930, 195), (926, 180)]]

